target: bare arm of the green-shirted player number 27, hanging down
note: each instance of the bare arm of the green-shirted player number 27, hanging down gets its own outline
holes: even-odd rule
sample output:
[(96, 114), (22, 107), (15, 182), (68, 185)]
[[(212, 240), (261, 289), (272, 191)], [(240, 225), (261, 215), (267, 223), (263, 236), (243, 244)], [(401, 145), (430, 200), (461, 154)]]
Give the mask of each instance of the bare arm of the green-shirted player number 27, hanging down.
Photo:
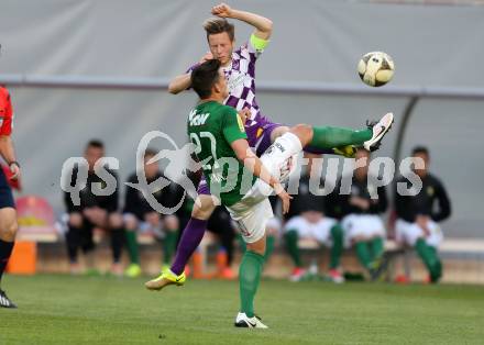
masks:
[(277, 197), (280, 198), (283, 202), (283, 213), (289, 211), (289, 202), (293, 197), (290, 197), (280, 185), (279, 180), (271, 175), (271, 172), (264, 167), (262, 160), (253, 153), (249, 146), (249, 142), (245, 138), (240, 138), (230, 144), (237, 158), (243, 163), (245, 168), (251, 171), (255, 177), (271, 186)]

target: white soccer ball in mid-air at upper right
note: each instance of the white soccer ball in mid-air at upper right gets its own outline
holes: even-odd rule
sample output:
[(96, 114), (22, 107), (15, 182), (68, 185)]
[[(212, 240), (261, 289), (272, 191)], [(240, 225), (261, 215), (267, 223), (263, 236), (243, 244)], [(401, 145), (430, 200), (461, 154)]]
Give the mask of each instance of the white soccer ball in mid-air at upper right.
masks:
[(391, 81), (394, 70), (392, 57), (383, 52), (367, 53), (358, 63), (361, 80), (372, 87), (381, 87)]

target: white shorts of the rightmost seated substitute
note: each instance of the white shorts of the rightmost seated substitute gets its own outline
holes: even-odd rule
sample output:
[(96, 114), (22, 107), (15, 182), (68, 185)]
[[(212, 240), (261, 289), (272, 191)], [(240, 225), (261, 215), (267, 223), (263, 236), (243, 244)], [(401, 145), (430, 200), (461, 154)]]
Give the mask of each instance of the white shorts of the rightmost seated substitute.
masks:
[(395, 222), (396, 240), (409, 246), (415, 246), (418, 238), (422, 237), (429, 246), (438, 247), (443, 241), (443, 234), (439, 224), (433, 221), (428, 222), (430, 235), (426, 237), (424, 230), (417, 223), (409, 223), (402, 219)]

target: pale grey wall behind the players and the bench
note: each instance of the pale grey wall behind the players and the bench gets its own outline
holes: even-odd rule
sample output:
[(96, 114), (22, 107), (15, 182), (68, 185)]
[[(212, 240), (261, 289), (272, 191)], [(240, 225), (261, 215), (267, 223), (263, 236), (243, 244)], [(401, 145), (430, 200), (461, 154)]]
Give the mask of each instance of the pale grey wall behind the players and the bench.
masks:
[[(211, 1), (1, 0), (1, 77), (64, 76), (170, 78), (206, 51), (201, 29)], [(483, 88), (484, 8), (375, 4), (367, 1), (237, 1), (234, 7), (274, 21), (274, 35), (257, 65), (257, 80), (360, 85), (359, 57), (382, 49), (396, 62), (393, 86)], [(251, 29), (237, 25), (243, 43)], [(15, 144), (24, 191), (45, 196), (63, 210), (59, 189), (65, 159), (80, 156), (100, 137), (119, 158), (121, 178), (134, 169), (135, 147), (148, 131), (185, 142), (185, 116), (196, 98), (166, 90), (11, 87)], [(274, 121), (359, 126), (386, 111), (403, 114), (408, 99), (261, 92)], [(453, 215), (449, 236), (483, 237), (482, 170), (484, 100), (422, 99), (409, 122), (404, 155), (416, 144), (431, 149)], [(396, 132), (396, 131), (395, 131)], [(392, 155), (396, 134), (380, 155)]]

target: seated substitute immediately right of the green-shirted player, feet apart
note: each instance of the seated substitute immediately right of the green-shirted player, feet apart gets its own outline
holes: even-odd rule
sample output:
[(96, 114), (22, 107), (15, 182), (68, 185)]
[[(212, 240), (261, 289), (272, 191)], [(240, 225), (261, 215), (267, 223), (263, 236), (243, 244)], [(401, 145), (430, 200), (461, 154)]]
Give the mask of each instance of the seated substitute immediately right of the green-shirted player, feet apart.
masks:
[(299, 179), (298, 193), (290, 202), (290, 210), (286, 214), (287, 223), (284, 226), (287, 252), (295, 265), (290, 280), (299, 281), (307, 274), (300, 258), (299, 238), (314, 238), (320, 245), (331, 248), (329, 278), (334, 282), (343, 282), (344, 278), (340, 270), (343, 230), (338, 221), (330, 216), (331, 209), (334, 207), (334, 196), (332, 193), (317, 194), (315, 189), (311, 189), (323, 188), (323, 186), (326, 189), (330, 189), (324, 185), (322, 178), (316, 177), (315, 181), (310, 178), (311, 171), (315, 171), (312, 170), (314, 159), (320, 158), (320, 155), (305, 153), (305, 158), (308, 158), (308, 165)]

